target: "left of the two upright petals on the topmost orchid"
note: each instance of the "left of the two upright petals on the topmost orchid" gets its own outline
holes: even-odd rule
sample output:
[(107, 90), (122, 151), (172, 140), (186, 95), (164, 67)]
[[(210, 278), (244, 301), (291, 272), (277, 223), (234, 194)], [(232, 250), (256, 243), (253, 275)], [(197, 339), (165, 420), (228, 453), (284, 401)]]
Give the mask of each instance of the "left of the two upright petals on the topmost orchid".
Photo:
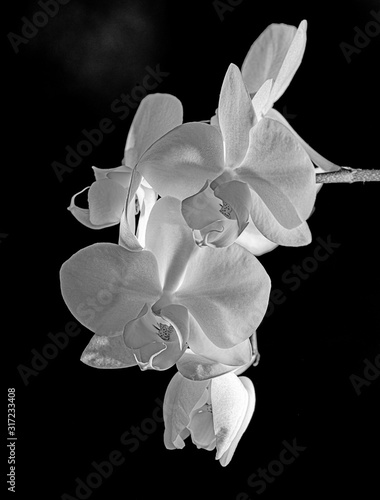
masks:
[(253, 42), (241, 69), (251, 94), (258, 92), (266, 80), (277, 78), (296, 32), (295, 26), (271, 24)]

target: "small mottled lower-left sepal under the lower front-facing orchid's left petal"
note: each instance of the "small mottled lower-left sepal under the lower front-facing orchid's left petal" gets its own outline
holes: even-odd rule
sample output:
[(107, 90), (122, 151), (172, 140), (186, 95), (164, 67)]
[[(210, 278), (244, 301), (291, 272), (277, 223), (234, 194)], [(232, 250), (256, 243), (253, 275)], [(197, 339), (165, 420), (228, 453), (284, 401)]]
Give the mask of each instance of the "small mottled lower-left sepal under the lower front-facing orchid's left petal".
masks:
[(125, 345), (122, 335), (117, 337), (94, 335), (83, 351), (80, 360), (94, 368), (128, 368), (137, 365), (135, 357)]

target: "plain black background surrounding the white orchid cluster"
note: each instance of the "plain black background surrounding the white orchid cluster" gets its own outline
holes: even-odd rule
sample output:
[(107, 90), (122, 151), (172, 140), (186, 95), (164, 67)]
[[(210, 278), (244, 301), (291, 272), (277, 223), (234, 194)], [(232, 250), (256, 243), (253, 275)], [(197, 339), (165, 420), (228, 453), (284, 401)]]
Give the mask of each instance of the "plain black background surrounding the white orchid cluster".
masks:
[[(276, 108), (296, 115), (291, 124), (327, 158), (376, 168), (380, 36), (350, 63), (340, 43), (353, 44), (354, 28), (364, 29), (380, 3), (243, 0), (221, 21), (211, 0), (72, 0), (18, 54), (6, 35), (20, 34), (22, 16), (31, 19), (40, 8), (35, 1), (7, 8), (0, 232), (8, 236), (0, 253), (3, 359), (7, 385), (16, 388), (13, 497), (75, 497), (75, 479), (85, 480), (93, 461), (120, 450), (124, 464), (93, 490), (91, 500), (234, 500), (241, 492), (247, 495), (241, 500), (248, 500), (257, 496), (249, 476), (278, 458), (283, 440), (296, 438), (306, 450), (258, 496), (372, 498), (379, 470), (379, 380), (357, 395), (350, 375), (363, 376), (364, 360), (373, 362), (379, 353), (378, 185), (324, 186), (309, 221), (313, 242), (261, 258), (286, 300), (258, 331), (262, 359), (245, 373), (254, 382), (257, 407), (227, 468), (214, 452), (191, 442), (182, 451), (167, 451), (163, 424), (135, 452), (121, 445), (125, 431), (151, 417), (174, 368), (92, 369), (79, 361), (92, 336), (84, 327), (27, 386), (18, 367), (30, 367), (32, 349), (41, 352), (49, 332), (74, 320), (60, 295), (61, 264), (84, 246), (117, 241), (117, 227), (91, 231), (66, 207), (92, 182), (92, 165), (120, 164), (133, 114), (120, 120), (110, 105), (141, 81), (145, 67), (160, 64), (170, 73), (156, 91), (182, 101), (185, 121), (207, 119), (229, 63), (240, 66), (270, 23), (298, 25), (306, 18), (305, 57)], [(64, 162), (65, 147), (75, 147), (82, 129), (97, 128), (106, 117), (115, 131), (59, 182), (51, 163)], [(316, 238), (328, 236), (340, 247), (291, 291), (282, 274), (313, 255)]]

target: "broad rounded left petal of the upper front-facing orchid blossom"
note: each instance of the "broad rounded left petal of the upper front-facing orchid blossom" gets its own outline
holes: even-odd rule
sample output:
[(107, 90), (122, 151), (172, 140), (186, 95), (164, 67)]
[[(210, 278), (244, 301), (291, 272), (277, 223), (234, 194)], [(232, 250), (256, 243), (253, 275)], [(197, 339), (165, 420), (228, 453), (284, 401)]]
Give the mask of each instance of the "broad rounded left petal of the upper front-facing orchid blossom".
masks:
[(183, 200), (223, 171), (223, 154), (223, 139), (215, 127), (185, 123), (155, 142), (137, 168), (160, 196)]

